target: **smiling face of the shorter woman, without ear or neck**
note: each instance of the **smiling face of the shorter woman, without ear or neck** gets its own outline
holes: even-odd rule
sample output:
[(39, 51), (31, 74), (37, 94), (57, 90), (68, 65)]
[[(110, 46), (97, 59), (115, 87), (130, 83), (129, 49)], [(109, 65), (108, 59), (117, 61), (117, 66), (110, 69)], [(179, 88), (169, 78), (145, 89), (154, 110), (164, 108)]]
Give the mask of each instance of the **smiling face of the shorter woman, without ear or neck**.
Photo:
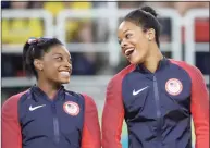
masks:
[(53, 46), (40, 60), (42, 77), (57, 84), (70, 82), (72, 60), (69, 50), (62, 46)]

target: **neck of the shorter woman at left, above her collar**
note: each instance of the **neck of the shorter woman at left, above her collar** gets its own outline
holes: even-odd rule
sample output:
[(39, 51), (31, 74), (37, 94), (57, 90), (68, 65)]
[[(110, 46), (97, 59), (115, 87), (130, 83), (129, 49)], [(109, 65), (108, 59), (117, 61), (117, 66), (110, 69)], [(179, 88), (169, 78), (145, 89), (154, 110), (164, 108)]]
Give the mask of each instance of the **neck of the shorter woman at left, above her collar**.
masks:
[(48, 96), (49, 99), (53, 99), (61, 87), (61, 85), (46, 82), (44, 78), (38, 78), (37, 86)]

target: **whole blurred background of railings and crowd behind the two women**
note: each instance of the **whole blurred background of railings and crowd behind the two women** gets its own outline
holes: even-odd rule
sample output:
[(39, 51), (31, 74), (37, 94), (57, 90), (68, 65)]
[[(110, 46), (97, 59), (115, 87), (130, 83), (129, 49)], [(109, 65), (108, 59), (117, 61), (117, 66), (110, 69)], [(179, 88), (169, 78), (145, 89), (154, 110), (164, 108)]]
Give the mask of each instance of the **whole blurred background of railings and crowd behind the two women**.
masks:
[[(164, 55), (196, 65), (209, 87), (209, 2), (1, 1), (1, 102), (36, 83), (25, 77), (22, 67), (28, 37), (57, 37), (73, 58), (73, 76), (65, 87), (92, 96), (101, 118), (109, 79), (128, 64), (118, 45), (118, 25), (145, 4), (159, 13)], [(124, 124), (123, 148), (126, 135)]]

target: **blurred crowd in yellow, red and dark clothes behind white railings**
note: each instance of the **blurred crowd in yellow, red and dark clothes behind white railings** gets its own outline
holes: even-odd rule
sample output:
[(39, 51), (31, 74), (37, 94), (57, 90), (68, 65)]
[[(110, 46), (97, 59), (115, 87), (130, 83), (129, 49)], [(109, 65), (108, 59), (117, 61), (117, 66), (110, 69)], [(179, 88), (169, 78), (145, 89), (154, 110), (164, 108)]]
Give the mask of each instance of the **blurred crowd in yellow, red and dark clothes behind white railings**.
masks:
[[(45, 9), (51, 12), (54, 16), (63, 9), (92, 9), (92, 8), (106, 8), (107, 2), (48, 2), (48, 1), (2, 1), (2, 9), (15, 10), (15, 9)], [(181, 15), (193, 8), (209, 8), (208, 2), (118, 2), (119, 9), (137, 9), (143, 4), (148, 4), (155, 8), (174, 8)], [(162, 27), (161, 41), (171, 41), (171, 21), (169, 18), (160, 20)], [(196, 33), (199, 34), (196, 41), (209, 40), (208, 30), (209, 20), (200, 20), (198, 23), (198, 29)], [(97, 27), (96, 27), (97, 26)], [(107, 40), (108, 33), (107, 24), (104, 20), (90, 21), (90, 20), (67, 20), (65, 25), (66, 42), (102, 42)], [(29, 20), (2, 20), (2, 44), (16, 45), (24, 42), (28, 37), (40, 37), (44, 35), (44, 22), (38, 18)], [(205, 34), (203, 34), (205, 32)], [(184, 44), (184, 42), (183, 42)], [(85, 48), (85, 47), (83, 47)], [(107, 65), (104, 53), (86, 52), (86, 53), (72, 53), (73, 58), (73, 75), (96, 75), (106, 73), (116, 73), (127, 62), (122, 58), (122, 62), (116, 67), (112, 67), (111, 71)], [(205, 59), (205, 54), (201, 54), (198, 59)], [(209, 60), (209, 55), (206, 58)], [(9, 76), (24, 76), (22, 62), (20, 54), (2, 54), (2, 77)], [(199, 63), (201, 71), (210, 73), (209, 66)]]

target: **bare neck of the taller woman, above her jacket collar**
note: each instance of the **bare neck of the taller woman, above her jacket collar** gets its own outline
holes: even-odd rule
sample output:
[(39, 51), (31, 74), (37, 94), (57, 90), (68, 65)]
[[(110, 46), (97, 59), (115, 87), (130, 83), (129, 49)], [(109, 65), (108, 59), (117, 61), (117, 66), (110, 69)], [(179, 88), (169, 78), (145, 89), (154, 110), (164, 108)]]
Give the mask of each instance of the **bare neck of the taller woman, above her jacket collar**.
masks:
[(160, 51), (160, 49), (155, 46), (151, 48), (150, 52), (148, 53), (144, 66), (149, 70), (151, 73), (155, 73), (159, 66), (160, 60), (163, 59), (163, 55)]

